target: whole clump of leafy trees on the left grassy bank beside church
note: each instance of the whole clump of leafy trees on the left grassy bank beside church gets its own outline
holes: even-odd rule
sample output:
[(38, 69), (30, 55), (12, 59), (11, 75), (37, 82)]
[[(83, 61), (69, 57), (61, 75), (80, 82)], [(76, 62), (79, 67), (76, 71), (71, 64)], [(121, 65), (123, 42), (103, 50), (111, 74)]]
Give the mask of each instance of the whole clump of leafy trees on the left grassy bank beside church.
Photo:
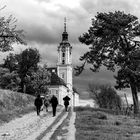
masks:
[(47, 66), (39, 66), (39, 62), (40, 54), (35, 48), (10, 53), (0, 67), (0, 88), (32, 95), (47, 93), (50, 75)]

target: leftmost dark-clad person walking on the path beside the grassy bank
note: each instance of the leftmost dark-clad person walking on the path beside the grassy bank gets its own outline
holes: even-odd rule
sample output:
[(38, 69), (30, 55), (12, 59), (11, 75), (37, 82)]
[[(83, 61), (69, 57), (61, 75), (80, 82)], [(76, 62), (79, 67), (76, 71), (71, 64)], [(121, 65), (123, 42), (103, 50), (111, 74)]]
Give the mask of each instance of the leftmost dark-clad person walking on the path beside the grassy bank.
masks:
[(40, 109), (41, 106), (43, 105), (42, 99), (40, 98), (40, 94), (37, 95), (34, 105), (36, 106), (37, 115), (40, 115)]

